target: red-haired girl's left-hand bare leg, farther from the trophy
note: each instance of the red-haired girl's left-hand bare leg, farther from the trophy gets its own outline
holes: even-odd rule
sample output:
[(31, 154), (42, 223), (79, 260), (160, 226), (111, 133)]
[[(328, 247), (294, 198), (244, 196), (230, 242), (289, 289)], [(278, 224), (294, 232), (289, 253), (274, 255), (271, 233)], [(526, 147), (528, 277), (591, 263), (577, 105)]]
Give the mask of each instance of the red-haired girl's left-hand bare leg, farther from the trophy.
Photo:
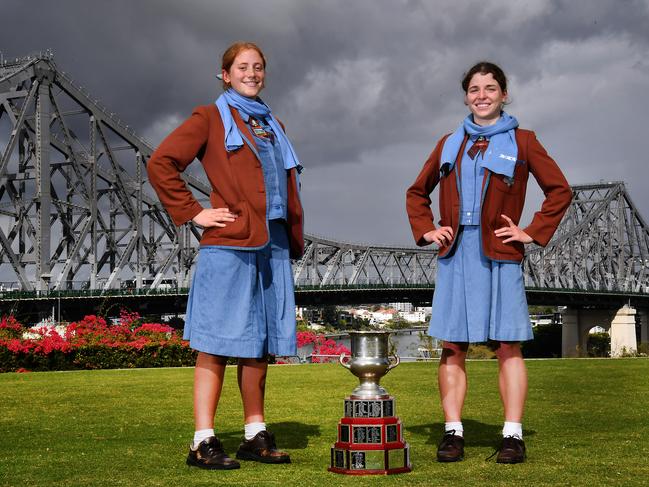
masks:
[(196, 430), (214, 428), (227, 359), (199, 352), (194, 369), (194, 421)]

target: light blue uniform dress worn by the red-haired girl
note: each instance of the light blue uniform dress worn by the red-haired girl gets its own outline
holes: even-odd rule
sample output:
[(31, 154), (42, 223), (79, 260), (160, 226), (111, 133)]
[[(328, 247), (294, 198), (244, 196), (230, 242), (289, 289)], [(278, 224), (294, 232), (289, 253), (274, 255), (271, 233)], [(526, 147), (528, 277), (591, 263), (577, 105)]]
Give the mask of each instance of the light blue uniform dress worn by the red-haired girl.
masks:
[[(243, 120), (252, 119), (240, 112)], [(295, 296), (286, 231), (287, 175), (272, 129), (251, 129), (266, 189), (268, 244), (259, 250), (202, 246), (189, 292), (184, 339), (191, 348), (228, 357), (296, 355)], [(254, 122), (253, 122), (254, 123)], [(250, 125), (249, 125), (250, 128)]]

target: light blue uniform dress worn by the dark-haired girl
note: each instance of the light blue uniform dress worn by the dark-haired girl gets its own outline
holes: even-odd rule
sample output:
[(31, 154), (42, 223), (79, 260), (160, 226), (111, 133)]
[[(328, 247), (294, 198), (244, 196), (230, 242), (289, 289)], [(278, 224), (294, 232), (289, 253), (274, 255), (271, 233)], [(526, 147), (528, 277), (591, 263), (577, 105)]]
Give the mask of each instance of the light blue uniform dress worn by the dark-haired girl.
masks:
[[(524, 341), (532, 338), (521, 265), (487, 259), (482, 252), (482, 153), (467, 152), (460, 178), (460, 227), (454, 249), (437, 262), (428, 334), (450, 342)], [(453, 173), (449, 177), (453, 177)], [(503, 226), (505, 221), (503, 220)]]

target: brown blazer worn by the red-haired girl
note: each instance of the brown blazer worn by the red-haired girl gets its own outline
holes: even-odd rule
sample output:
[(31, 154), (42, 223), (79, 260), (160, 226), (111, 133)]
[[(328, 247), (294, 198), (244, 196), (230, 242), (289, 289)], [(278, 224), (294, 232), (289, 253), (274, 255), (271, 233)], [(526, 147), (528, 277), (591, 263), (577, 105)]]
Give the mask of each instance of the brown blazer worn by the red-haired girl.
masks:
[[(248, 136), (249, 130), (239, 112), (231, 111), (239, 130), (256, 149), (254, 138)], [(216, 105), (197, 107), (149, 159), (149, 181), (174, 223), (182, 225), (203, 210), (180, 176), (194, 158), (198, 158), (212, 186), (212, 208), (229, 208), (239, 215), (225, 227), (205, 228), (201, 245), (261, 248), (269, 239), (261, 162), (248, 143), (228, 152), (224, 142), (225, 130)], [(291, 257), (298, 258), (304, 253), (304, 225), (296, 169), (287, 171), (287, 177), (287, 229)]]

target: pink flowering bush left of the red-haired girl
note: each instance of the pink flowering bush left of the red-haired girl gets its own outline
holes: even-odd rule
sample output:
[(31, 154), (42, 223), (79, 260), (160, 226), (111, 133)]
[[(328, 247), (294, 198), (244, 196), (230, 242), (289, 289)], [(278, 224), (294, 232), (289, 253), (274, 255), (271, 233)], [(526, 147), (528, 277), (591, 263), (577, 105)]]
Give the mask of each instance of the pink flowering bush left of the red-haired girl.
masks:
[(138, 313), (124, 310), (116, 325), (88, 315), (62, 333), (45, 326), (27, 330), (13, 316), (0, 321), (0, 372), (164, 367), (194, 361), (195, 352), (180, 331), (142, 323)]

